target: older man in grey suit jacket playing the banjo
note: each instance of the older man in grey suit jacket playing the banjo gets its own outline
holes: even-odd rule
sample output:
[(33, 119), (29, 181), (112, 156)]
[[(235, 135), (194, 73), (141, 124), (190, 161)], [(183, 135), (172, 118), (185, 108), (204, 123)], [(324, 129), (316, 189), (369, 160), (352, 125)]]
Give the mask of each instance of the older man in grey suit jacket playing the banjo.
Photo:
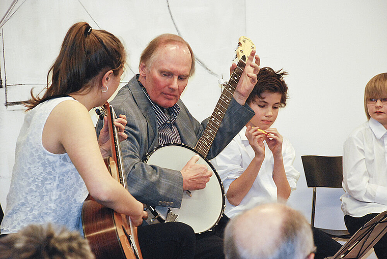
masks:
[[(208, 159), (222, 151), (254, 116), (253, 110), (245, 104), (259, 72), (259, 58), (256, 56), (253, 62), (254, 54), (255, 51), (247, 59)], [(128, 189), (147, 205), (179, 208), (183, 190), (204, 188), (212, 172), (206, 166), (196, 164), (197, 157), (192, 157), (181, 171), (148, 165), (142, 160), (147, 152), (160, 144), (174, 142), (193, 147), (202, 135), (207, 121), (199, 123), (180, 100), (189, 77), (195, 72), (195, 57), (181, 37), (164, 34), (145, 48), (139, 71), (140, 74), (135, 75), (110, 102), (116, 113), (125, 114), (128, 120), (125, 128), (128, 138), (121, 143)], [(97, 125), (97, 132), (101, 124)], [(216, 257), (208, 251), (204, 253), (208, 258)], [(205, 257), (199, 254), (198, 251), (197, 257)]]

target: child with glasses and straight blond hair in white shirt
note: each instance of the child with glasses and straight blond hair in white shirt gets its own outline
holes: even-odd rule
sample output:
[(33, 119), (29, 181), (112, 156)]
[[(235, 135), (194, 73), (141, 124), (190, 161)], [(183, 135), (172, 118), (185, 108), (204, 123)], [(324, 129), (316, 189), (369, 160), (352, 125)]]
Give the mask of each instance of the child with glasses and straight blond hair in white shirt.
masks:
[[(364, 108), (368, 121), (352, 131), (343, 148), (345, 193), (340, 200), (351, 235), (387, 210), (387, 73), (367, 83)], [(387, 258), (387, 236), (374, 250), (378, 258)]]

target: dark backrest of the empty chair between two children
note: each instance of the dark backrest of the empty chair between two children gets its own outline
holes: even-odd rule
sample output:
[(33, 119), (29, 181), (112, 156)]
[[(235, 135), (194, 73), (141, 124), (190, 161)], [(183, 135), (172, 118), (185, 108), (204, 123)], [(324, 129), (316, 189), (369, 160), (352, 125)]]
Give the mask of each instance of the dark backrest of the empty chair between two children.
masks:
[(342, 156), (302, 155), (301, 160), (308, 187), (342, 187)]

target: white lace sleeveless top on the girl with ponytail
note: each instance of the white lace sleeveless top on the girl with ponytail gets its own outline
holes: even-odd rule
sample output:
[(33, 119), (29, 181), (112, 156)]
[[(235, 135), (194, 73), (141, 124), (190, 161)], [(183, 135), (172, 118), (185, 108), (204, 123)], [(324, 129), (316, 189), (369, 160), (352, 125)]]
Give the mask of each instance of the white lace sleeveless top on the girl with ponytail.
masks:
[(15, 165), (1, 233), (34, 223), (53, 222), (81, 232), (80, 213), (88, 190), (67, 153), (53, 154), (42, 144), (52, 109), (70, 97), (43, 102), (24, 117), (16, 143)]

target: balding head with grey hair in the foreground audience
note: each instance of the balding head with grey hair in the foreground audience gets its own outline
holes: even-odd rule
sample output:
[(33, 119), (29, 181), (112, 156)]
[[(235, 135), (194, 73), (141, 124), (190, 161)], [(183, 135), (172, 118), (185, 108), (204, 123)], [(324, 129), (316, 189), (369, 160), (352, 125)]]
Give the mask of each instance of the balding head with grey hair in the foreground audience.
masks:
[(284, 204), (264, 204), (230, 220), (225, 231), (227, 259), (313, 259), (311, 225)]

